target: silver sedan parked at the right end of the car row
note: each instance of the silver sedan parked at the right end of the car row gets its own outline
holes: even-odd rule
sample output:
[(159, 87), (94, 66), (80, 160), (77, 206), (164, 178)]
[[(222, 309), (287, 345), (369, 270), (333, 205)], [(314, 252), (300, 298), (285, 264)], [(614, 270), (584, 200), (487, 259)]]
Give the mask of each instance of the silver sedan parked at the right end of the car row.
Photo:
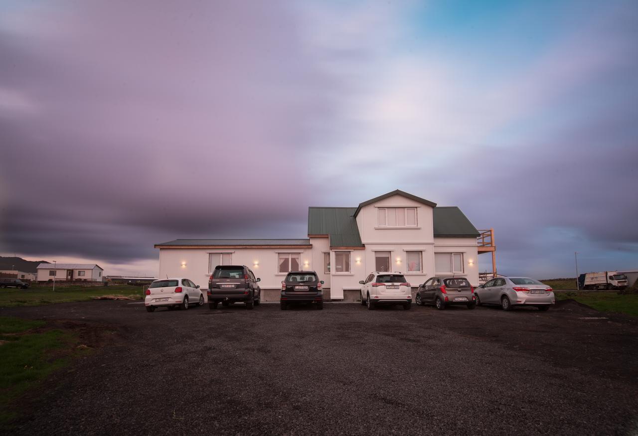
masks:
[(496, 277), (475, 289), (477, 305), (496, 304), (503, 310), (533, 306), (547, 310), (556, 303), (551, 287), (529, 277)]

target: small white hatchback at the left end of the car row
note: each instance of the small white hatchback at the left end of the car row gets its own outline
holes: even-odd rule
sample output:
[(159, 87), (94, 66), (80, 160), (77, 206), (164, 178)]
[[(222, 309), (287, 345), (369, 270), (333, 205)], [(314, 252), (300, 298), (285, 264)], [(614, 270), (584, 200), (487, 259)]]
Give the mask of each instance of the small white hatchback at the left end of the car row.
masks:
[(168, 309), (188, 309), (189, 305), (204, 305), (204, 293), (189, 279), (160, 279), (155, 280), (146, 289), (144, 305), (147, 312), (154, 311), (157, 307)]

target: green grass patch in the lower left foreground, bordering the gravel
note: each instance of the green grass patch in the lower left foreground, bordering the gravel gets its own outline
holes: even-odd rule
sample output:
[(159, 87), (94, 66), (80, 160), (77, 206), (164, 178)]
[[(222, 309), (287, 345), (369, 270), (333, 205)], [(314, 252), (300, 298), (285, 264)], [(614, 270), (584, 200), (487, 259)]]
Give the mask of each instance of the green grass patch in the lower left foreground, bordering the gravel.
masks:
[(15, 398), (85, 352), (76, 341), (73, 333), (47, 329), (45, 321), (0, 317), (0, 432), (10, 430), (17, 417)]

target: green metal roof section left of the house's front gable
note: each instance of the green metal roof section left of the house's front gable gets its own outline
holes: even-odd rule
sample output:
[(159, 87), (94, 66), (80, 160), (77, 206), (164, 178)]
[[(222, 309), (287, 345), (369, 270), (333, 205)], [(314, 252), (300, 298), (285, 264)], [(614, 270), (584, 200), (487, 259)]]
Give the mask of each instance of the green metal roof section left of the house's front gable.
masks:
[(308, 235), (328, 235), (330, 247), (363, 247), (354, 207), (309, 207)]

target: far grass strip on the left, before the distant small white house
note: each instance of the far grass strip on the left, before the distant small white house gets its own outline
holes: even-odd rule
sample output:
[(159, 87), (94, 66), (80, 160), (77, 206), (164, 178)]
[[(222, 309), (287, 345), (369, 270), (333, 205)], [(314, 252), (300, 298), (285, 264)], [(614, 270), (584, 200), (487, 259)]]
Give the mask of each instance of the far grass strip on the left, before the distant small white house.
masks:
[(29, 289), (0, 289), (0, 307), (40, 306), (52, 303), (84, 302), (96, 296), (119, 295), (142, 299), (140, 286), (34, 286)]

